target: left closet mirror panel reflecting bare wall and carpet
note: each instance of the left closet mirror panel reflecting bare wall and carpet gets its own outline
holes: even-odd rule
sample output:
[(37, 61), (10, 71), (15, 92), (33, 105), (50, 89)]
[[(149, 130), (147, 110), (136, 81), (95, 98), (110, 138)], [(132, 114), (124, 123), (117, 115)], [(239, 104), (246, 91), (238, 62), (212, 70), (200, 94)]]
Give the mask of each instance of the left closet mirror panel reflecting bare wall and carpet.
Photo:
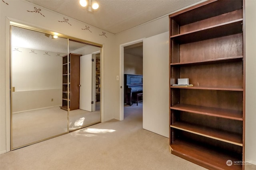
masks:
[(62, 56), (68, 41), (11, 26), (12, 149), (68, 133), (62, 102)]

